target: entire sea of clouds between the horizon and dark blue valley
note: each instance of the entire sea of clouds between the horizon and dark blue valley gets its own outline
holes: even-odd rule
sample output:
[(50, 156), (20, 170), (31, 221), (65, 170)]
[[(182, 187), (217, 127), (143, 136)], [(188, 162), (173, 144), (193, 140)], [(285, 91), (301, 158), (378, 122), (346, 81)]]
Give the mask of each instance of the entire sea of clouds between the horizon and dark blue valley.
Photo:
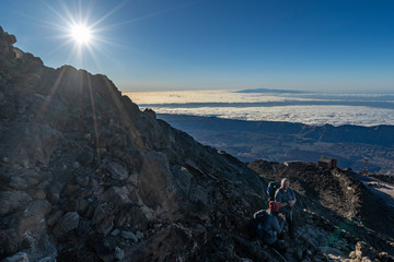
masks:
[(394, 126), (394, 95), (269, 94), (234, 91), (126, 93), (143, 110), (158, 114), (301, 122), (312, 126)]

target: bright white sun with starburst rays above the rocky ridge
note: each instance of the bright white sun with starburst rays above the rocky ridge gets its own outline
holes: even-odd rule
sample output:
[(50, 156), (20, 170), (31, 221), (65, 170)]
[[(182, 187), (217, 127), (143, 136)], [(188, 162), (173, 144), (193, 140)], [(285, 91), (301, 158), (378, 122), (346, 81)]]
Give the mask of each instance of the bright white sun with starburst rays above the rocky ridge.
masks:
[[(1, 1), (1, 0), (0, 0)], [(49, 3), (50, 2), (50, 3)], [(53, 5), (53, 2), (54, 3)], [(89, 64), (100, 64), (99, 53), (105, 55), (104, 46), (114, 45), (114, 39), (108, 39), (105, 32), (118, 25), (109, 25), (105, 21), (120, 9), (126, 1), (108, 10), (102, 16), (95, 13), (94, 1), (44, 1), (56, 20), (43, 21), (43, 26), (57, 31), (54, 38), (59, 45), (51, 53), (68, 49), (67, 63), (76, 68), (88, 68)]]

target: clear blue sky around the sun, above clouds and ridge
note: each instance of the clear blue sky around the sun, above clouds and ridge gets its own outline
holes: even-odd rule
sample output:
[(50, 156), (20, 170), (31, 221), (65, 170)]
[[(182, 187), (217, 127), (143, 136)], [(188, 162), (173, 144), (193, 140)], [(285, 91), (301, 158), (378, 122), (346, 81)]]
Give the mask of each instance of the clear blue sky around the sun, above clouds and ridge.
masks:
[[(121, 91), (394, 91), (394, 1), (1, 0), (0, 25), (46, 66)], [(80, 52), (71, 21), (93, 25)]]

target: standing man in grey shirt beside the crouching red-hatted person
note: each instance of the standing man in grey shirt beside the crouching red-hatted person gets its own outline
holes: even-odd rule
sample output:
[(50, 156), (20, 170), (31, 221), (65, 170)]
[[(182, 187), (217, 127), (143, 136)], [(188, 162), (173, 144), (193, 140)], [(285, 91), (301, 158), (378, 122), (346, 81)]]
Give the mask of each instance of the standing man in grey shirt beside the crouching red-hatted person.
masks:
[(294, 239), (294, 218), (292, 209), (296, 204), (296, 193), (291, 188), (289, 188), (289, 180), (283, 178), (281, 180), (280, 188), (275, 193), (275, 201), (279, 203), (279, 210), (286, 216), (290, 238)]

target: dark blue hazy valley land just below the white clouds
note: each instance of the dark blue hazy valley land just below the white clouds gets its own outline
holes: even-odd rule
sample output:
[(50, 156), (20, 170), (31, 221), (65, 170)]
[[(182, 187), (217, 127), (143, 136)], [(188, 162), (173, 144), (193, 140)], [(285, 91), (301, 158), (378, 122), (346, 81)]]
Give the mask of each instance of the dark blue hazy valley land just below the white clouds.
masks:
[[(244, 162), (317, 162), (338, 159), (339, 167), (394, 175), (394, 127), (243, 121), (216, 117), (158, 114), (202, 144), (225, 151)], [(367, 165), (364, 159), (368, 160)]]

